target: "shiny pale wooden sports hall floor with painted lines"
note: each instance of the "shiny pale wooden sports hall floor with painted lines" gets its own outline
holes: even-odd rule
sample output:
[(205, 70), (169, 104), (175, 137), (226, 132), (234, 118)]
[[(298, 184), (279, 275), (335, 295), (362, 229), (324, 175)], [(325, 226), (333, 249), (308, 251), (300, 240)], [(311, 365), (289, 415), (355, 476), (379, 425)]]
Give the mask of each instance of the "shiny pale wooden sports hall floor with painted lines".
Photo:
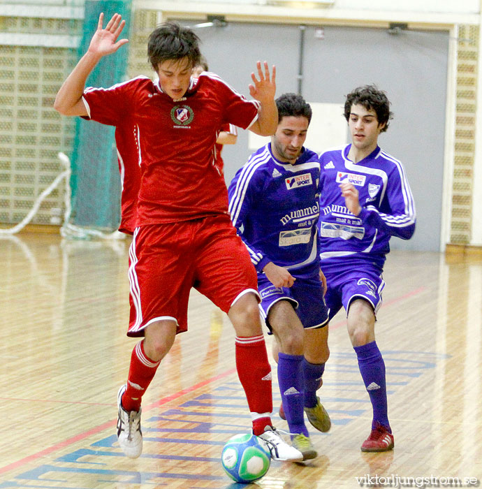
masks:
[[(242, 487), (220, 463), (225, 441), (250, 426), (233, 329), (195, 291), (189, 332), (145, 395), (143, 455), (130, 460), (117, 446), (117, 389), (136, 342), (125, 335), (128, 247), (29, 233), (0, 239), (0, 488)], [(384, 278), (376, 330), (395, 449), (360, 451), (371, 405), (338, 314), (320, 391), (333, 426), (321, 434), (308, 425), (319, 457), (272, 462), (249, 487), (479, 486), (482, 263), (394, 251)], [(277, 411), (276, 382), (273, 395)]]

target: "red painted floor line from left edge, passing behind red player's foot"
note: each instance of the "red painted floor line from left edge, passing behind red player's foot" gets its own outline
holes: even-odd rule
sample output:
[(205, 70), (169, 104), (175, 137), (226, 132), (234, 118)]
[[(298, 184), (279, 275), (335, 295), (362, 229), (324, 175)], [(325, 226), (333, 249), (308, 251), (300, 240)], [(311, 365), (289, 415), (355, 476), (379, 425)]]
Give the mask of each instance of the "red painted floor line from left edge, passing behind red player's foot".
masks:
[[(231, 369), (227, 370), (226, 372), (217, 375), (216, 377), (211, 377), (210, 379), (203, 380), (202, 382), (198, 382), (198, 384), (195, 384), (191, 387), (182, 389), (182, 391), (178, 391), (177, 393), (168, 395), (166, 397), (163, 397), (161, 400), (153, 402), (152, 404), (147, 405), (145, 408), (143, 407), (143, 411), (149, 411), (150, 409), (153, 409), (154, 407), (159, 407), (162, 404), (166, 404), (166, 402), (170, 402), (172, 400), (175, 400), (177, 397), (181, 397), (184, 394), (190, 393), (192, 391), (196, 391), (196, 389), (203, 387), (207, 384), (211, 384), (214, 381), (217, 381), (219, 379), (222, 379), (223, 377), (228, 377), (228, 375), (233, 374), (236, 372), (236, 369)], [(12, 462), (9, 465), (6, 465), (5, 467), (0, 467), (0, 474), (3, 474), (5, 472), (8, 472), (13, 469), (17, 469), (18, 467), (22, 467), (22, 465), (25, 465), (32, 460), (36, 460), (37, 458), (41, 458), (45, 455), (49, 455), (50, 453), (59, 450), (60, 448), (65, 448), (66, 446), (74, 444), (76, 441), (80, 441), (82, 439), (85, 439), (91, 435), (96, 435), (96, 433), (99, 433), (103, 430), (106, 430), (107, 428), (111, 428), (112, 426), (115, 426), (117, 423), (116, 421), (107, 421), (106, 423), (103, 423), (101, 425), (96, 426), (95, 428), (92, 428), (91, 430), (88, 430), (83, 433), (79, 433), (78, 435), (75, 435), (75, 437), (68, 438), (64, 441), (60, 441), (59, 443), (49, 446), (48, 448), (45, 448), (44, 450), (41, 450), (37, 453), (33, 453), (32, 455), (28, 455), (25, 458), (22, 458), (21, 460), (17, 460), (17, 462)]]

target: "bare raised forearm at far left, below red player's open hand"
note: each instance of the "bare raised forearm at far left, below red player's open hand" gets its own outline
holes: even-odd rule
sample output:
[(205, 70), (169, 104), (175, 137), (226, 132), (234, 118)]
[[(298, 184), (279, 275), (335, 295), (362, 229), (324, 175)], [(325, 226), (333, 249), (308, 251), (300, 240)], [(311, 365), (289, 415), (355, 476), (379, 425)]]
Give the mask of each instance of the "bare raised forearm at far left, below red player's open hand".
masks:
[(57, 92), (54, 109), (63, 115), (87, 115), (82, 103), (85, 82), (101, 57), (87, 51)]

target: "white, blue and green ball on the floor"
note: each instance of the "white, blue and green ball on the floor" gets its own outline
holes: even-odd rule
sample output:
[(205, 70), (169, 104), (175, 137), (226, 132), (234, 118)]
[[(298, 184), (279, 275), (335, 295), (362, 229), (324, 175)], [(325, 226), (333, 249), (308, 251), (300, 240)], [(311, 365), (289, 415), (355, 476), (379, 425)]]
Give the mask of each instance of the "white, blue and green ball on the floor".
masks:
[(221, 463), (233, 481), (250, 483), (270, 468), (271, 455), (263, 440), (254, 435), (235, 435), (224, 445)]

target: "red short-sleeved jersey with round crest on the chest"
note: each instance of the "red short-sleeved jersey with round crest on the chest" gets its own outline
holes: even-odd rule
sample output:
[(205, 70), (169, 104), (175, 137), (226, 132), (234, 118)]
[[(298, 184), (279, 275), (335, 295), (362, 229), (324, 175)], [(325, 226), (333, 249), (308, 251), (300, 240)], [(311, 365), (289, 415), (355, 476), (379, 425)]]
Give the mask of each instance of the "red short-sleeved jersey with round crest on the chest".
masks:
[(212, 73), (191, 79), (187, 93), (176, 101), (146, 77), (108, 89), (87, 88), (84, 99), (91, 119), (119, 131), (133, 128), (140, 163), (136, 226), (228, 214), (214, 143), (223, 124), (251, 126), (258, 102)]

